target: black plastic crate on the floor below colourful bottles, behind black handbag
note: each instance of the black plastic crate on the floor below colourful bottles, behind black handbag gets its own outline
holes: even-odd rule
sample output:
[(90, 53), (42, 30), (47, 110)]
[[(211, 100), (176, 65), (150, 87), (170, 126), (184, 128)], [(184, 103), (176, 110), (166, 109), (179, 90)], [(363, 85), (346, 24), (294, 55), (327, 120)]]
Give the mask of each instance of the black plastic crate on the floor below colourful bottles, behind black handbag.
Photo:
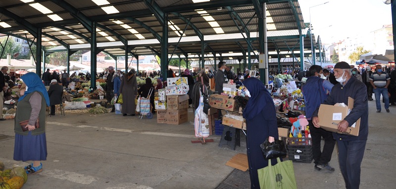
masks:
[(289, 145), (289, 160), (311, 163), (313, 159), (312, 146)]

